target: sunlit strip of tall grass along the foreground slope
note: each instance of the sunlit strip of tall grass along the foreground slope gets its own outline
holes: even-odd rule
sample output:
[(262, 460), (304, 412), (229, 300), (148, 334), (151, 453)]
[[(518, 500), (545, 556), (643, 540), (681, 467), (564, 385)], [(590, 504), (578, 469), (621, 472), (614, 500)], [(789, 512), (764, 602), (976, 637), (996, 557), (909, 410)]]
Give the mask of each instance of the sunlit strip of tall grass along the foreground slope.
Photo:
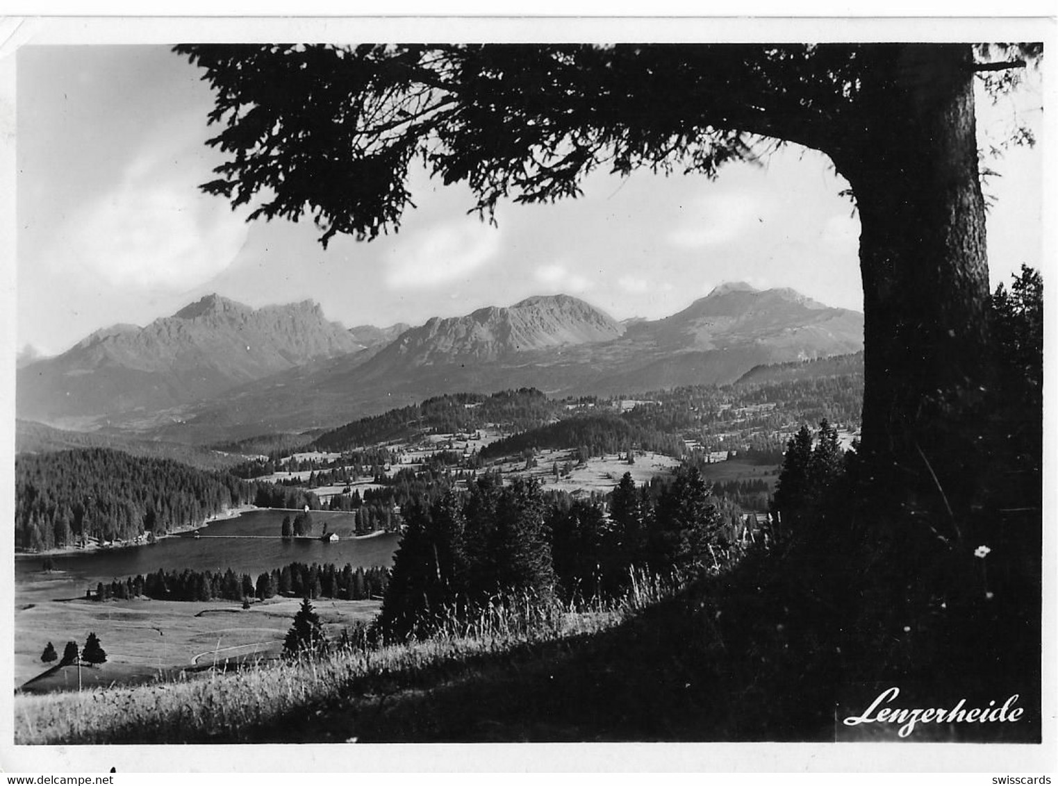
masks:
[[(424, 640), (344, 646), (321, 657), (171, 682), (19, 695), (15, 742), (253, 742), (262, 736), (295, 742), (292, 717), (323, 711), (355, 715), (405, 690), (473, 678), (486, 658), (605, 630), (685, 586), (679, 574), (634, 570), (627, 590), (615, 599), (560, 604), (522, 592), (496, 595), (473, 609), (453, 606)], [(291, 728), (280, 728), (285, 724)]]

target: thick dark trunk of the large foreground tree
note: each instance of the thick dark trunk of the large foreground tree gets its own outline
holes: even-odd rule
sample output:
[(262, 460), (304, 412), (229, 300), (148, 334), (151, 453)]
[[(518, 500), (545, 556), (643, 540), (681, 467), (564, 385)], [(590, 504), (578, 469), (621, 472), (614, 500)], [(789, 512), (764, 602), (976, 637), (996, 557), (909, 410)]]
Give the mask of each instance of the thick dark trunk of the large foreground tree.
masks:
[(894, 48), (887, 66), (834, 156), (861, 224), (862, 444), (943, 486), (965, 475), (965, 417), (989, 384), (970, 48)]

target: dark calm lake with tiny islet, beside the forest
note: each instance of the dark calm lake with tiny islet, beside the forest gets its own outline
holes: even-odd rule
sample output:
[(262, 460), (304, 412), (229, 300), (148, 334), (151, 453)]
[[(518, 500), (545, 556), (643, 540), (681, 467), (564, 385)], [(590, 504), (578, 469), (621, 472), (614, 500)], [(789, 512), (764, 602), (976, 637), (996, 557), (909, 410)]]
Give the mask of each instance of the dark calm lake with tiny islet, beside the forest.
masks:
[[(236, 573), (257, 574), (279, 568), (291, 562), (334, 563), (343, 567), (350, 563), (353, 568), (388, 567), (397, 549), (400, 535), (381, 533), (369, 537), (353, 538), (353, 516), (343, 511), (312, 511), (313, 533), (323, 532), (326, 523), (328, 532), (336, 532), (335, 543), (324, 543), (318, 538), (279, 537), (284, 516), (293, 517), (287, 510), (253, 510), (236, 518), (212, 522), (199, 528), (203, 537), (196, 538), (190, 532), (166, 537), (145, 546), (101, 549), (84, 553), (55, 555), (54, 568), (61, 573), (42, 574), (42, 557), (19, 557), (15, 561), (16, 590), (20, 585), (39, 583), (49, 575), (54, 590), (62, 585), (62, 592), (74, 591), (71, 582), (80, 588), (76, 596), (84, 596), (85, 588), (99, 581), (153, 572), (158, 569), (183, 570), (225, 570)], [(208, 537), (206, 535), (213, 535)], [(217, 537), (217, 535), (255, 535), (255, 537)], [(54, 597), (54, 596), (53, 596)]]

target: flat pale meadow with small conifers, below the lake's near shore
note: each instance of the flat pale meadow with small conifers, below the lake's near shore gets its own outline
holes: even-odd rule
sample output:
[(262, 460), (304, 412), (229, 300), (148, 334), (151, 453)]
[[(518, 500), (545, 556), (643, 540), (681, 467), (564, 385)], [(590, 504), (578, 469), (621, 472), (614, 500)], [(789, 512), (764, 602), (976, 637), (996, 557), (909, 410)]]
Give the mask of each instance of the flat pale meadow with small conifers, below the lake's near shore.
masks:
[[(181, 602), (135, 599), (97, 603), (52, 601), (16, 610), (15, 684), (49, 670), (40, 653), (51, 641), (61, 654), (67, 641), (83, 646), (89, 633), (99, 637), (107, 662), (81, 668), (84, 686), (153, 680), (159, 673), (211, 665), (225, 659), (274, 658), (282, 650), (300, 600), (272, 598), (243, 609), (236, 601)], [(328, 635), (370, 622), (379, 601), (321, 598), (313, 602)], [(51, 664), (54, 665), (54, 664)], [(28, 692), (77, 689), (77, 666), (63, 666), (26, 687)]]

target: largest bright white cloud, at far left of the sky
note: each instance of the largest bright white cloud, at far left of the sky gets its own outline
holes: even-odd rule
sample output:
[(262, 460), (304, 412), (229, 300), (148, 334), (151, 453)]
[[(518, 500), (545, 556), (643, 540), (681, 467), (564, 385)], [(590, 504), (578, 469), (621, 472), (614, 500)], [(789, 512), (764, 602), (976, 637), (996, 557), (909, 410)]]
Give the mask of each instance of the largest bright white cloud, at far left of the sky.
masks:
[(201, 172), (175, 158), (168, 151), (131, 161), (112, 189), (57, 227), (52, 261), (117, 288), (172, 291), (231, 264), (249, 232), (243, 215), (200, 194)]

